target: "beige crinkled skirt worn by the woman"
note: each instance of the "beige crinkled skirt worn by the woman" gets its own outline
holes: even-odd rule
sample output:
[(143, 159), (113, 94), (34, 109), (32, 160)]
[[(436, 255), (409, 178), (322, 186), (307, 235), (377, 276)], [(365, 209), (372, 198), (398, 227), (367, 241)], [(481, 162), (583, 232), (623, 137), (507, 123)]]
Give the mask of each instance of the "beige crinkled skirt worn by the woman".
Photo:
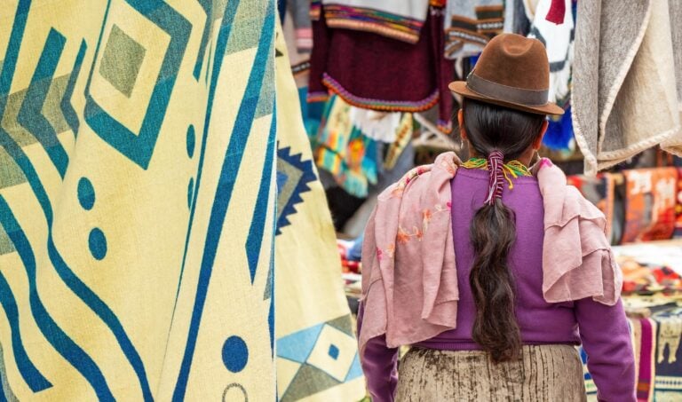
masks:
[(395, 400), (583, 402), (583, 365), (569, 345), (524, 346), (523, 359), (497, 365), (483, 351), (412, 348)]

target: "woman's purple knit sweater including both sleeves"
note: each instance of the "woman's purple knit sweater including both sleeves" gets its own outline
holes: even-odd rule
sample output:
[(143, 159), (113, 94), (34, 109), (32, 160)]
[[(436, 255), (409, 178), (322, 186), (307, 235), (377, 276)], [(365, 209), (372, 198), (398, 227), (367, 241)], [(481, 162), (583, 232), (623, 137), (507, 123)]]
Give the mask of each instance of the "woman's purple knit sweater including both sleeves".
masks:
[[(516, 215), (516, 242), (509, 264), (516, 284), (516, 316), (524, 344), (583, 344), (599, 400), (634, 401), (635, 366), (623, 303), (607, 306), (583, 299), (547, 303), (543, 299), (543, 199), (535, 177), (519, 177), (504, 188), (504, 204)], [(476, 310), (469, 273), (473, 248), (469, 227), (488, 191), (488, 171), (459, 169), (452, 180), (452, 230), (459, 303), (457, 327), (416, 346), (445, 351), (480, 349), (472, 340)], [(362, 305), (358, 328), (362, 325)], [(578, 331), (580, 329), (580, 331)], [(398, 382), (397, 350), (385, 336), (371, 339), (361, 361), (374, 402), (393, 401)]]

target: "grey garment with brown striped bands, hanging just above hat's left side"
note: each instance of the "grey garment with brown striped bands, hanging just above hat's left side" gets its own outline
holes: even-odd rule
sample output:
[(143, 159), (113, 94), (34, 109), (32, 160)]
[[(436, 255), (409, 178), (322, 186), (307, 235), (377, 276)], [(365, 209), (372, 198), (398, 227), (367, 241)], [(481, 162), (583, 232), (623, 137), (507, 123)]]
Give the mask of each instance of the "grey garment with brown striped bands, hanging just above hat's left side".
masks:
[(504, 28), (503, 0), (448, 0), (445, 13), (445, 55), (460, 59), (480, 53)]

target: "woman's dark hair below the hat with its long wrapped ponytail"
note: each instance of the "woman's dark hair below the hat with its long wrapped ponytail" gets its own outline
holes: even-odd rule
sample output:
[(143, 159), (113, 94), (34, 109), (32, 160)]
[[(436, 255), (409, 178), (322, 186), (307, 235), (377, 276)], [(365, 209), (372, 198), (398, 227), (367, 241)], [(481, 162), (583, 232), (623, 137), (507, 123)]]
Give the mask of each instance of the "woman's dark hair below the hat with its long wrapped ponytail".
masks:
[(488, 159), (488, 200), (472, 219), (474, 260), (469, 282), (476, 303), (472, 336), (491, 359), (518, 359), (519, 324), (514, 312), (515, 287), (507, 261), (516, 240), (512, 209), (502, 202), (502, 164), (519, 158), (543, 130), (544, 116), (465, 99), (464, 130), (473, 149)]

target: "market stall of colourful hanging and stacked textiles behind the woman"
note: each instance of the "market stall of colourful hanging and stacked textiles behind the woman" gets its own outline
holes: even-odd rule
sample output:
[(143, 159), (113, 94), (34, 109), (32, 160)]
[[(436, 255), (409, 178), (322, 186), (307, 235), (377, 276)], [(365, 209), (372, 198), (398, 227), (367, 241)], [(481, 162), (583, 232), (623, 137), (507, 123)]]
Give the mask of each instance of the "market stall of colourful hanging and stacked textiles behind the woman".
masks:
[[(442, 152), (467, 156), (450, 118), (461, 99), (447, 83), (469, 75), (495, 35), (535, 37), (550, 61), (549, 99), (566, 111), (550, 118), (541, 154), (607, 217), (625, 277), (638, 398), (680, 398), (682, 160), (673, 155), (682, 149), (682, 77), (671, 67), (682, 67), (682, 35), (674, 23), (682, 7), (674, 1), (424, 0), (407, 2), (408, 15), (400, 15), (404, 3), (313, 1), (311, 19), (301, 22), (299, 13), (296, 29), (289, 27), (289, 35), (296, 33), (289, 41), (292, 68), (307, 100), (306, 129), (337, 230), (351, 310), (361, 294), (362, 232), (377, 194)], [(623, 14), (636, 28), (604, 28)], [(594, 49), (589, 32), (600, 32), (607, 45)], [(646, 74), (652, 65), (655, 72)], [(593, 397), (587, 371), (585, 379)]]

